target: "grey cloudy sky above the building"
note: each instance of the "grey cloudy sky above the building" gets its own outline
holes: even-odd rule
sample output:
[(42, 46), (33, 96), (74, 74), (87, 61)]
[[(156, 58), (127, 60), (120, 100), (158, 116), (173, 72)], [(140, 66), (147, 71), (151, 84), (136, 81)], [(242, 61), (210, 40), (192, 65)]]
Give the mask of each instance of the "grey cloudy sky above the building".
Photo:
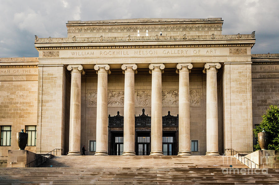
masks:
[(0, 0), (0, 57), (37, 57), (34, 35), (67, 37), (68, 20), (222, 17), (223, 34), (256, 31), (252, 53), (279, 53), (278, 0)]

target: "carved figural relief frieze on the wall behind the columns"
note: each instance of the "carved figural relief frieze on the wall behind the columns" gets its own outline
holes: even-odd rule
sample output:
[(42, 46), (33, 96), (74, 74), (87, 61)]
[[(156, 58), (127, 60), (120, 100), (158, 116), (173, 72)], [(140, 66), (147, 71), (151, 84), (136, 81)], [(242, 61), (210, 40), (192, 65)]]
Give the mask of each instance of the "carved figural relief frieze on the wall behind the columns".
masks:
[[(178, 90), (162, 90), (162, 106), (178, 107)], [(190, 107), (201, 107), (201, 89), (189, 90)], [(97, 90), (87, 90), (87, 107), (97, 106)], [(108, 107), (124, 106), (124, 90), (108, 90)], [(151, 107), (151, 90), (135, 90), (135, 107)]]

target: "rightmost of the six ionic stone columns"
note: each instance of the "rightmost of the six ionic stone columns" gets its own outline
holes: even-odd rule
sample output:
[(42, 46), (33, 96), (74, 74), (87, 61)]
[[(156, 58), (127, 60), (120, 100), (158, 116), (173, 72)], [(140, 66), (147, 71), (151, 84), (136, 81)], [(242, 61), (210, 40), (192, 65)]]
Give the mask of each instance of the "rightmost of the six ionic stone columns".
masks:
[(218, 151), (218, 103), (217, 69), (219, 63), (206, 63), (206, 155), (219, 155)]

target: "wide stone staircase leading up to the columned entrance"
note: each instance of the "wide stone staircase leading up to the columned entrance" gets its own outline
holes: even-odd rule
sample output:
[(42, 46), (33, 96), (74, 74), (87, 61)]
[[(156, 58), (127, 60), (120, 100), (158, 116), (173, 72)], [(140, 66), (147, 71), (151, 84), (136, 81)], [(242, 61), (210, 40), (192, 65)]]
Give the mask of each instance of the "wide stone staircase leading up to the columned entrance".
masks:
[(0, 168), (0, 185), (279, 184), (279, 170), (249, 170), (232, 156), (55, 156), (38, 168)]

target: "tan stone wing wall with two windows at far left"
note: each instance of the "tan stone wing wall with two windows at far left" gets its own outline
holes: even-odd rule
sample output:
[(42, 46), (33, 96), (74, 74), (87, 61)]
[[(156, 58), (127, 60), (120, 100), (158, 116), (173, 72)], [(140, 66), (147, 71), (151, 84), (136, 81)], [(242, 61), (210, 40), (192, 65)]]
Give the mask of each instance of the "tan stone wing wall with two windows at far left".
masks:
[[(11, 146), (0, 146), (0, 161), (18, 149), (16, 132), (37, 124), (38, 58), (0, 59), (0, 125), (11, 125)], [(35, 152), (36, 146), (27, 146)]]

